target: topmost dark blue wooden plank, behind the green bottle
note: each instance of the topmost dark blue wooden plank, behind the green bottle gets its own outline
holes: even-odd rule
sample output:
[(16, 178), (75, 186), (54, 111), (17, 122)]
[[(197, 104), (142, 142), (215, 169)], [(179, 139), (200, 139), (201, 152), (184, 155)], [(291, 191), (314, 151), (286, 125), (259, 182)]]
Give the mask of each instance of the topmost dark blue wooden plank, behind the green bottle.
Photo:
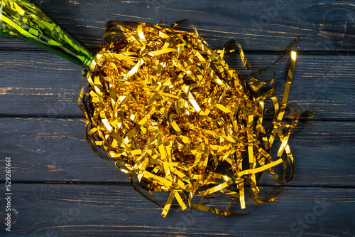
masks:
[[(90, 48), (109, 20), (173, 23), (190, 19), (213, 47), (231, 38), (247, 51), (280, 51), (300, 35), (298, 51), (354, 51), (353, 1), (36, 1)], [(0, 39), (0, 48), (36, 48)]]

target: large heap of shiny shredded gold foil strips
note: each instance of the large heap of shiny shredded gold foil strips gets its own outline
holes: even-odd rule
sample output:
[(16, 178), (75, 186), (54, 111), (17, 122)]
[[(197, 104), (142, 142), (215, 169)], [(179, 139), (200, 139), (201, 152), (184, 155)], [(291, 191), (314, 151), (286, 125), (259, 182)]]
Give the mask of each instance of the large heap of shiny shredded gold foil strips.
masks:
[[(175, 199), (182, 209), (187, 201), (190, 209), (243, 216), (228, 210), (237, 200), (245, 208), (246, 187), (256, 204), (275, 199), (258, 198), (257, 173), (268, 170), (283, 184), (289, 161), (293, 177), (288, 139), (298, 118), (286, 125), (283, 116), (296, 53), (279, 104), (275, 88), (256, 78), (268, 68), (246, 83), (225, 62), (226, 50), (214, 51), (197, 31), (176, 30), (176, 25), (108, 23), (105, 44), (85, 72), (89, 87), (79, 99), (87, 117), (87, 140), (99, 156), (97, 148), (114, 159), (146, 199), (153, 201), (136, 187), (134, 176), (151, 194), (170, 192), (161, 216)], [(250, 69), (241, 48), (239, 53)], [(275, 110), (270, 132), (263, 125), (266, 99)], [(271, 156), (275, 139), (280, 141), (276, 159)], [(273, 172), (280, 163), (282, 180)], [(226, 209), (205, 206), (204, 199), (193, 203), (195, 195), (216, 192), (231, 198)]]

